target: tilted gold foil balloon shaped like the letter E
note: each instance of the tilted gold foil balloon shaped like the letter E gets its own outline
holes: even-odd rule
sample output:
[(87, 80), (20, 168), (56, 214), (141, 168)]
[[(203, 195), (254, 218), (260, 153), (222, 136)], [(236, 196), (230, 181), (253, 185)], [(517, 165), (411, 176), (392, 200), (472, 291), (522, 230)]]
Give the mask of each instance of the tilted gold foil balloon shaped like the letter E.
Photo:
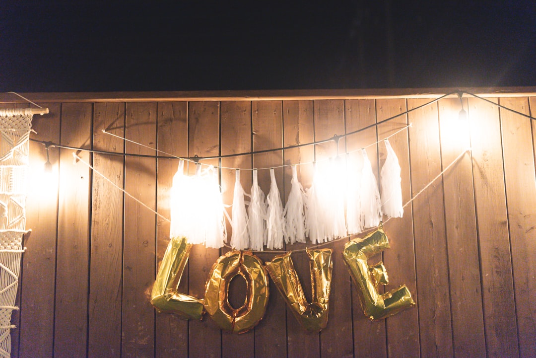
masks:
[(379, 228), (362, 239), (349, 241), (343, 251), (344, 261), (358, 290), (361, 307), (370, 319), (389, 317), (415, 305), (406, 285), (383, 295), (378, 293), (378, 284), (388, 284), (388, 275), (382, 263), (369, 266), (367, 259), (385, 249), (389, 249), (389, 240), (383, 228)]

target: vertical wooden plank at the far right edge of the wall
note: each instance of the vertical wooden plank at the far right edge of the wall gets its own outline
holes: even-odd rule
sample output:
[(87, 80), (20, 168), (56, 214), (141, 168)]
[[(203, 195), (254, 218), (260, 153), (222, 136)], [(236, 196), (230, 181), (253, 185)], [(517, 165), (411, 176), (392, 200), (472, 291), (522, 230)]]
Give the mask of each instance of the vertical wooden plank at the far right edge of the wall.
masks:
[[(501, 105), (528, 114), (526, 98), (501, 98)], [(530, 98), (531, 115), (534, 116), (536, 98)], [(472, 117), (471, 117), (472, 118)], [(504, 155), (504, 174), (508, 199), (508, 221), (515, 287), (516, 310), (510, 307), (512, 322), (517, 314), (519, 356), (530, 357), (536, 352), (536, 179), (534, 174), (534, 138), (531, 125), (534, 120), (501, 109), (501, 127)], [(532, 136), (536, 135), (532, 129)], [(502, 297), (502, 296), (501, 296)], [(509, 299), (509, 297), (503, 297)], [(504, 302), (501, 302), (504, 304)], [(515, 326), (504, 327), (515, 332)], [(515, 340), (513, 340), (515, 342)], [(510, 346), (512, 341), (510, 341)]]

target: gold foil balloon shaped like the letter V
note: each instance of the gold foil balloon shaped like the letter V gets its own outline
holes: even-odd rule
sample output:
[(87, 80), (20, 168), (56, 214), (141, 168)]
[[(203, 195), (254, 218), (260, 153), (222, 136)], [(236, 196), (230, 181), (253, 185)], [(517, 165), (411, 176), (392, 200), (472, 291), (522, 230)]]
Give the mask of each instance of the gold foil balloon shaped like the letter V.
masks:
[(300, 279), (294, 270), (291, 252), (266, 263), (270, 277), (284, 297), (294, 317), (308, 331), (318, 332), (327, 325), (331, 272), (331, 249), (306, 250), (311, 271), (312, 303), (308, 303)]

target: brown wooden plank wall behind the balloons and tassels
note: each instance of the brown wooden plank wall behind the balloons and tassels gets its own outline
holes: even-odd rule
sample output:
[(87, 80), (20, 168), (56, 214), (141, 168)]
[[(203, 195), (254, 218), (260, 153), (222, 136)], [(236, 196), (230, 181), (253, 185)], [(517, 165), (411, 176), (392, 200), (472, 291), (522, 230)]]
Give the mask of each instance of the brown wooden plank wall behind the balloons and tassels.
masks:
[[(490, 98), (535, 114), (536, 98)], [(177, 102), (40, 103), (32, 138), (117, 153), (200, 156), (258, 151), (308, 143), (363, 128), (430, 99), (321, 99)], [(9, 103), (2, 105), (10, 107)], [(11, 106), (12, 107), (12, 106)], [(415, 308), (370, 322), (361, 312), (343, 263), (344, 241), (329, 245), (333, 282), (329, 322), (321, 333), (300, 329), (273, 283), (266, 315), (247, 333), (222, 332), (208, 317), (185, 321), (157, 314), (148, 294), (166, 249), (174, 159), (89, 154), (50, 148), (56, 182), (46, 183), (42, 145), (32, 143), (31, 185), (19, 285), (13, 315), (13, 357), (530, 357), (536, 352), (536, 122), (475, 98), (464, 99), (468, 122), (457, 121), (460, 102), (443, 99), (340, 141), (341, 151), (367, 147), (378, 175), (383, 143), (402, 167), (404, 202), (457, 156), (456, 164), (385, 225), (386, 289), (405, 284)], [(138, 141), (140, 147), (102, 133)], [(265, 168), (310, 162), (336, 153), (333, 142), (221, 160), (221, 166)], [(355, 154), (353, 154), (355, 155)], [(218, 164), (218, 160), (211, 161)], [(300, 167), (302, 183), (312, 166)], [(262, 189), (269, 173), (259, 170)], [(220, 171), (224, 200), (233, 196), (234, 172)], [(291, 169), (276, 169), (281, 196)], [(251, 174), (243, 171), (246, 191)], [(53, 178), (54, 180), (54, 178)], [(230, 210), (229, 210), (230, 212)], [(287, 245), (300, 249), (303, 244)], [(181, 292), (202, 297), (207, 273), (226, 249), (192, 249)], [(270, 260), (273, 254), (259, 254)], [(306, 256), (294, 253), (310, 297)], [(243, 300), (237, 284), (231, 300)]]

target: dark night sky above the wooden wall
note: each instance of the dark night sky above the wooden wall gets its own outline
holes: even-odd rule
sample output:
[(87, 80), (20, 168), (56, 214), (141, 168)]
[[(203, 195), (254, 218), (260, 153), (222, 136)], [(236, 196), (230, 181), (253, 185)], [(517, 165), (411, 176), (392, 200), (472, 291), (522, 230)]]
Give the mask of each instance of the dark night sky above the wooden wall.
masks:
[(109, 3), (2, 1), (0, 92), (536, 85), (534, 0)]

